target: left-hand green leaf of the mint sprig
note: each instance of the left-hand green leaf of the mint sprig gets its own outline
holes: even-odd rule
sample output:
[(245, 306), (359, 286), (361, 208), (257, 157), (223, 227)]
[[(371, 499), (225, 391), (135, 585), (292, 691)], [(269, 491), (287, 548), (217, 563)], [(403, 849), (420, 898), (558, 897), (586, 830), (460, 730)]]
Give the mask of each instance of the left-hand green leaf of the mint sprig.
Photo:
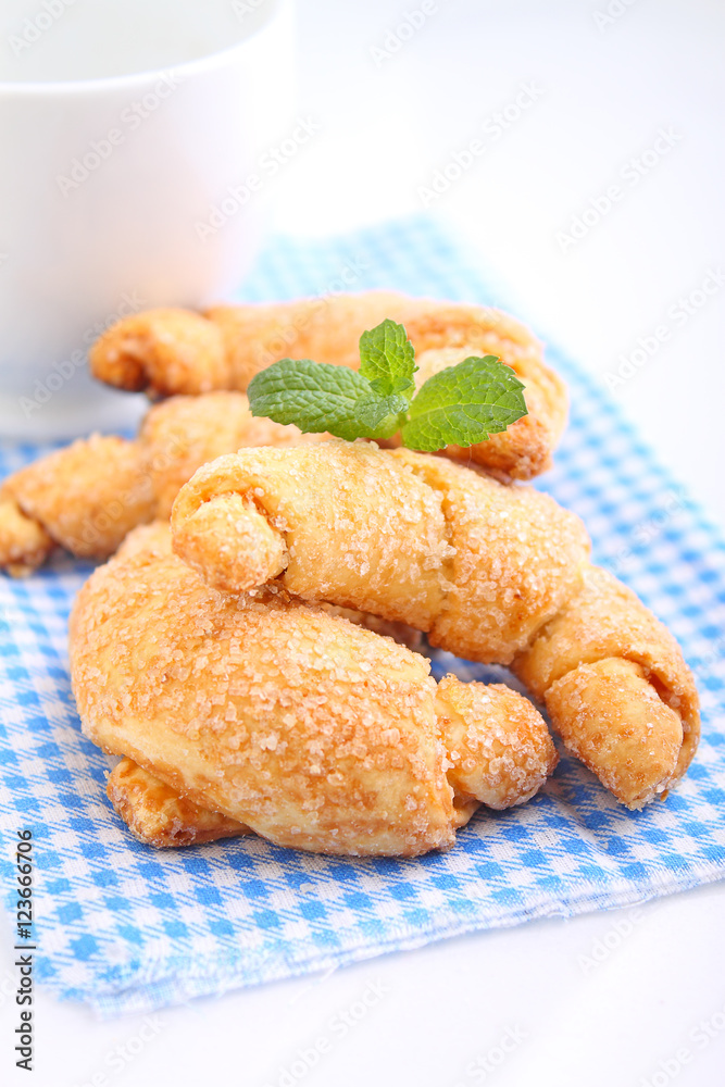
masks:
[(300, 430), (328, 430), (338, 438), (389, 438), (408, 408), (400, 396), (378, 397), (348, 366), (283, 359), (257, 374), (247, 389), (252, 415), (295, 423)]

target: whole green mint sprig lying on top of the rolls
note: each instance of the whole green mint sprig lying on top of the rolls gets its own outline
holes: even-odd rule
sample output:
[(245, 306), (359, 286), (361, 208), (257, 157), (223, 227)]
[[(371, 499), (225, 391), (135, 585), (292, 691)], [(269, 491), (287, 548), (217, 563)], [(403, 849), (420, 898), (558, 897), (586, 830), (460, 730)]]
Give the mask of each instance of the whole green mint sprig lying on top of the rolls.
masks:
[(439, 371), (417, 393), (415, 352), (402, 325), (384, 321), (360, 337), (360, 370), (283, 359), (250, 382), (252, 415), (295, 423), (307, 434), (391, 438), (435, 452), (474, 446), (527, 414), (524, 386), (492, 354)]

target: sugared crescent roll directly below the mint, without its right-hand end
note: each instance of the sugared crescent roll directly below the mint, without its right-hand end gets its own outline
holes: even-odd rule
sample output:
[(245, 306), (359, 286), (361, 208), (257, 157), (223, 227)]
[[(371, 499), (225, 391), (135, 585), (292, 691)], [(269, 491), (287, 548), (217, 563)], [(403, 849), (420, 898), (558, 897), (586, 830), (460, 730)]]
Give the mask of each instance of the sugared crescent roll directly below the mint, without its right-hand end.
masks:
[(179, 491), (172, 527), (217, 589), (276, 579), (500, 664), (578, 590), (589, 553), (578, 517), (530, 487), (337, 440), (212, 461)]

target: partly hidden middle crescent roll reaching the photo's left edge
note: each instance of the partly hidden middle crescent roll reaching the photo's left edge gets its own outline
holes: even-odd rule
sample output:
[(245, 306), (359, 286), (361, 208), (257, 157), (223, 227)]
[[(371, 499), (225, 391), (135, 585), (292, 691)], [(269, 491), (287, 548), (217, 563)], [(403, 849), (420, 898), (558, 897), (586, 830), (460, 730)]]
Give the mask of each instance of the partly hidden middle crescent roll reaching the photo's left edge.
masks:
[(173, 397), (151, 408), (135, 441), (93, 435), (5, 479), (0, 569), (30, 573), (57, 546), (107, 559), (136, 525), (168, 517), (179, 487), (207, 461), (240, 446), (325, 437), (254, 418), (242, 392)]

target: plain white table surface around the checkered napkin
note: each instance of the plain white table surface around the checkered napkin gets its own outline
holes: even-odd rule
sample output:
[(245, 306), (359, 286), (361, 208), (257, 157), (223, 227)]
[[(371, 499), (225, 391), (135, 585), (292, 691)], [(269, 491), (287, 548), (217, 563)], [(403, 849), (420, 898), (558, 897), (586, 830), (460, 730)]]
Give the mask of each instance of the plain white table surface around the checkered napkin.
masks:
[[(608, 4), (622, 14), (598, 26)], [(300, 110), (322, 132), (275, 183), (277, 227), (318, 235), (421, 211), (420, 187), (480, 138), (484, 153), (430, 210), (499, 271), (511, 308), (601, 380), (638, 337), (666, 326), (670, 337), (615, 395), (725, 527), (725, 283), (700, 307), (696, 295), (686, 318), (671, 309), (682, 312), (678, 299), (709, 270), (725, 271), (725, 7), (438, 0), (397, 52), (371, 52), (421, 7), (300, 0)], [(487, 120), (524, 85), (536, 101), (496, 136)], [(674, 133), (672, 146), (635, 184), (627, 163), (660, 129)], [(558, 233), (614, 184), (611, 211), (563, 251)], [(720, 1087), (724, 914), (718, 884), (641, 910), (483, 933), (200, 1000), (146, 1023), (98, 1023), (40, 991), (32, 1079), (9, 1060), (16, 1009), (3, 920), (1, 1078), (36, 1087), (80, 1087), (100, 1073), (103, 1087)], [(363, 998), (371, 1007), (343, 1034), (340, 1015), (360, 1012)], [(329, 1051), (314, 1066), (293, 1064), (321, 1037)]]

